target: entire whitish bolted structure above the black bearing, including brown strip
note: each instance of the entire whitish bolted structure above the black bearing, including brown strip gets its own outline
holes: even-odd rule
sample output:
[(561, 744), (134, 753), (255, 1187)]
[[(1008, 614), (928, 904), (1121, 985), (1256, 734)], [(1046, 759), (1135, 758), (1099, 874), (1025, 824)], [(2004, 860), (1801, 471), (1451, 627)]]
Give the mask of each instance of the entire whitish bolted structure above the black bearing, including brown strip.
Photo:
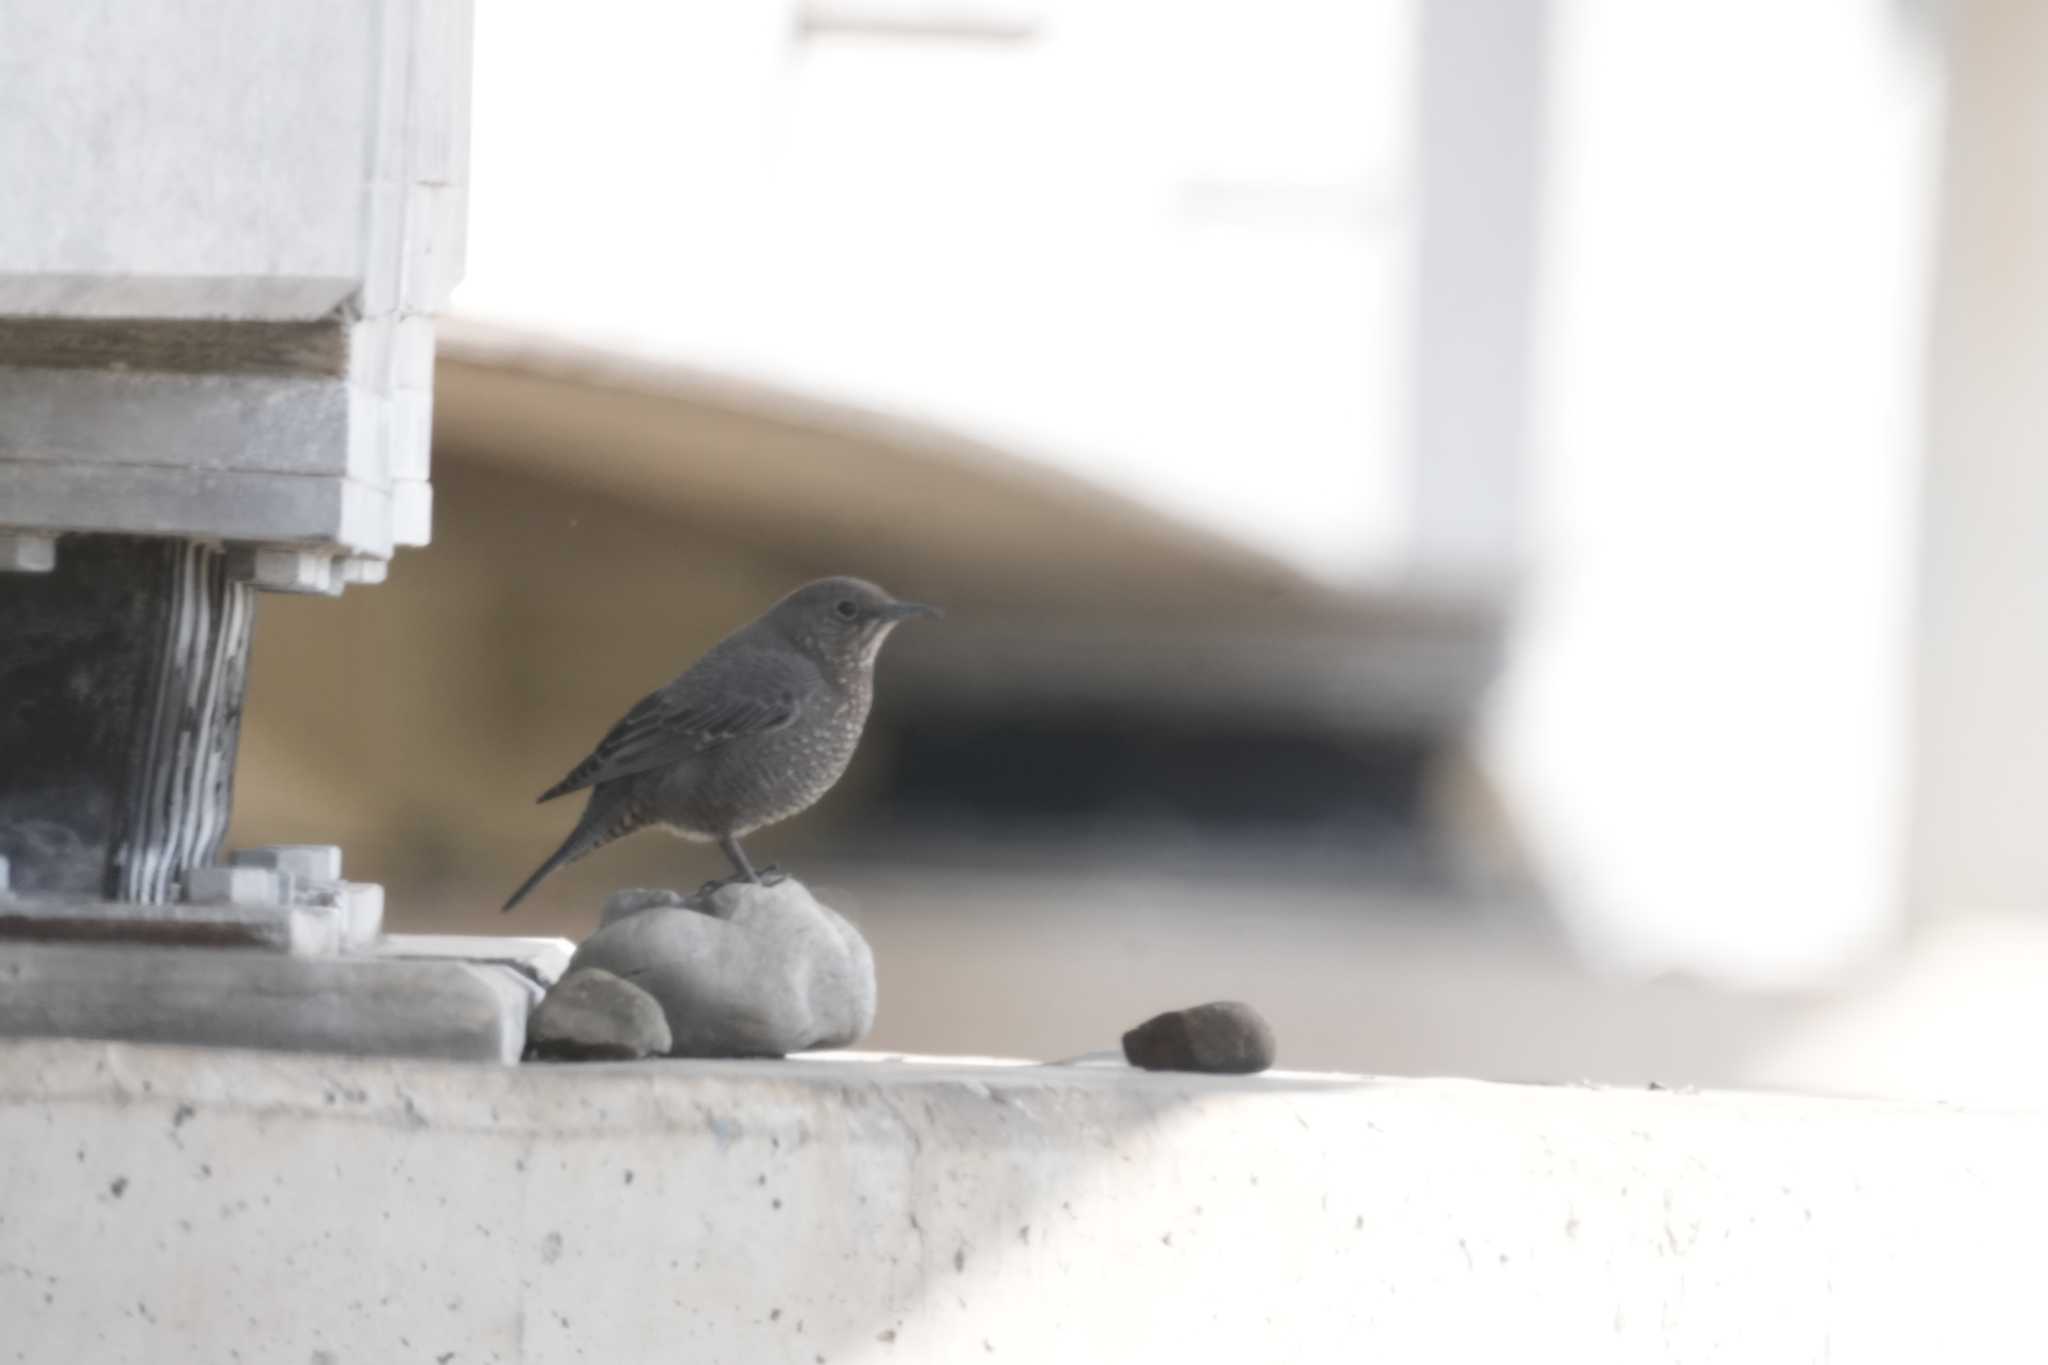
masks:
[(426, 544), (463, 270), (469, 2), (80, 6), (0, 39), (0, 538)]

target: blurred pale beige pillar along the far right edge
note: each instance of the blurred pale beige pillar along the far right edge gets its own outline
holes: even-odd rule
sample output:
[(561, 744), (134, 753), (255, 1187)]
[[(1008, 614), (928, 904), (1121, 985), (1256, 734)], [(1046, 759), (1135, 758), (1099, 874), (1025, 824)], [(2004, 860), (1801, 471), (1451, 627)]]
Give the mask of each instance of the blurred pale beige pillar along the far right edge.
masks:
[(1923, 505), (1913, 896), (2048, 907), (2048, 6), (1960, 0)]

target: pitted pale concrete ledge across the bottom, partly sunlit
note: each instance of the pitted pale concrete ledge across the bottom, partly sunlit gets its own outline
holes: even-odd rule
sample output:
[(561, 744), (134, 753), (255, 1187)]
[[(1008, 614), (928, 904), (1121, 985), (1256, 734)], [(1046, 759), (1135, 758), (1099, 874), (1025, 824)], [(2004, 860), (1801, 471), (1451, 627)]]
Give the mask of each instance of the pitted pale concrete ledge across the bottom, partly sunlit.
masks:
[(25, 1361), (2042, 1359), (2040, 1115), (0, 1044)]

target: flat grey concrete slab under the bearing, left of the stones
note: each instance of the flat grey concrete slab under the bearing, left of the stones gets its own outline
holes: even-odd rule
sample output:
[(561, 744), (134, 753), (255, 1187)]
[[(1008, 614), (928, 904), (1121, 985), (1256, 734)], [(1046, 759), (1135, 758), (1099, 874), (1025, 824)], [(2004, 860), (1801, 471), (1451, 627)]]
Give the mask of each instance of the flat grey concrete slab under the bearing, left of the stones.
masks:
[(0, 941), (0, 1038), (516, 1062), (539, 995), (473, 962)]

